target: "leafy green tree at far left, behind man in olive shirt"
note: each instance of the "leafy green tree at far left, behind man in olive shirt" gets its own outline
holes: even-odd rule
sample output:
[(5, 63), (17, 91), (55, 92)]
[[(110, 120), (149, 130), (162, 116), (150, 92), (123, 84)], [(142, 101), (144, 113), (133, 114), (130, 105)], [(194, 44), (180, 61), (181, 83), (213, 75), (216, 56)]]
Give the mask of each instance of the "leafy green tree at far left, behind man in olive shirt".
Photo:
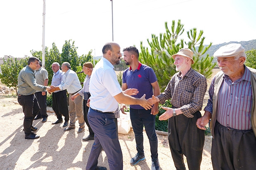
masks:
[(17, 95), (18, 76), (22, 68), (23, 66), (17, 61), (17, 58), (8, 58), (7, 61), (4, 60), (4, 63), (1, 65), (2, 73), (0, 73), (0, 79), (2, 84), (8, 87), (14, 87)]

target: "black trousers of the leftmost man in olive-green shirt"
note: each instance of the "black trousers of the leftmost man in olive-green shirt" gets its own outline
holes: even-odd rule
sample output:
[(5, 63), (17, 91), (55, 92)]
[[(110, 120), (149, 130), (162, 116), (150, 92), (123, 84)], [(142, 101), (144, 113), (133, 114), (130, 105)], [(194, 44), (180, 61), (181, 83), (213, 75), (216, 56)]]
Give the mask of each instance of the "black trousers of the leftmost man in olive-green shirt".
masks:
[(24, 113), (24, 132), (25, 135), (28, 136), (31, 134), (31, 126), (34, 118), (40, 112), (40, 107), (38, 105), (36, 96), (34, 94), (31, 95), (18, 95), (18, 102), (22, 106)]

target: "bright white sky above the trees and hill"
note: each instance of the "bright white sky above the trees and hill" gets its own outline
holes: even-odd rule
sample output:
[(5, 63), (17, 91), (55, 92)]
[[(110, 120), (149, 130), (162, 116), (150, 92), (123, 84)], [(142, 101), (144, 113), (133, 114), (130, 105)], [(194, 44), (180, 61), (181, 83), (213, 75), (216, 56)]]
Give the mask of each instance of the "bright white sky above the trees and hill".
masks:
[[(204, 44), (256, 39), (255, 0), (45, 0), (45, 46), (75, 41), (78, 55), (102, 56), (113, 36), (121, 51), (140, 42), (148, 47), (151, 35), (165, 33), (173, 20), (187, 31), (203, 30)], [(0, 1), (0, 58), (31, 56), (42, 51), (43, 0)]]

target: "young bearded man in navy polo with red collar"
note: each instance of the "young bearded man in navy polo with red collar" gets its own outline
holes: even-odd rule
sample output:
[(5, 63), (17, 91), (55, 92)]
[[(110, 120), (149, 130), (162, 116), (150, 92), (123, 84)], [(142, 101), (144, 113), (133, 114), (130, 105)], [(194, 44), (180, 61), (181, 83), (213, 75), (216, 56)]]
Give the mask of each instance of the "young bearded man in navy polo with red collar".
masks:
[[(127, 88), (137, 88), (139, 93), (133, 95), (135, 98), (141, 98), (143, 94), (146, 94), (146, 99), (151, 98), (153, 94), (159, 95), (160, 88), (154, 70), (139, 62), (138, 49), (136, 47), (125, 48), (123, 49), (123, 56), (126, 65), (130, 65), (130, 67), (123, 72), (122, 90), (125, 91)], [(154, 88), (154, 91), (152, 88)], [(144, 109), (140, 105), (130, 105), (130, 119), (135, 134), (137, 149), (137, 154), (130, 160), (131, 165), (135, 165), (145, 159), (143, 150), (143, 126), (145, 126), (152, 158), (151, 169), (159, 170), (157, 153), (158, 141), (155, 131), (155, 115), (157, 113), (158, 103), (149, 110)]]

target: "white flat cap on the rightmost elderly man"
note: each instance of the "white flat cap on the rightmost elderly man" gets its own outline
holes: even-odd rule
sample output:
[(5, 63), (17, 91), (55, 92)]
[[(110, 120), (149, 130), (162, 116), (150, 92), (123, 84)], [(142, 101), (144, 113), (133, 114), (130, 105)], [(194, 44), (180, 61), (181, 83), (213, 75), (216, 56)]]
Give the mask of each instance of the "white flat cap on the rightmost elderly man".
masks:
[(243, 53), (242, 56), (246, 57), (244, 53), (244, 47), (241, 44), (228, 44), (225, 46), (220, 47), (214, 54), (214, 57), (233, 57), (237, 54)]

